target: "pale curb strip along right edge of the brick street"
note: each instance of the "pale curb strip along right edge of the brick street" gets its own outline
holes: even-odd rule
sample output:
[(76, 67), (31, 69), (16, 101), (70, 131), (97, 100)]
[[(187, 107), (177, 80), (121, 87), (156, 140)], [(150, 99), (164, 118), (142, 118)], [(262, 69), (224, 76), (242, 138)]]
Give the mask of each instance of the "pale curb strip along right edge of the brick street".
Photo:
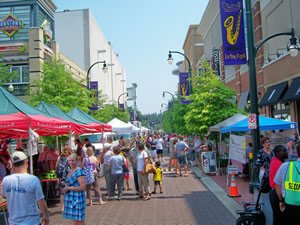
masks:
[(239, 217), (236, 210), (241, 210), (242, 207), (235, 200), (229, 198), (227, 193), (213, 179), (203, 174), (198, 167), (191, 167), (190, 170), (201, 180), (206, 188), (220, 200), (235, 218)]

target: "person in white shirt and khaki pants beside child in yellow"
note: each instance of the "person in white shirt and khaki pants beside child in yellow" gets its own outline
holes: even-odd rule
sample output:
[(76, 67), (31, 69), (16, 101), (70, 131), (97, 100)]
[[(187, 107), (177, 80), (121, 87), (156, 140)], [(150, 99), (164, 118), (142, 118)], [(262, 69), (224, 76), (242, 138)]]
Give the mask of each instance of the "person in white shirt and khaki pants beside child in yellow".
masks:
[(150, 200), (150, 186), (148, 173), (145, 172), (146, 162), (149, 160), (149, 155), (144, 150), (145, 147), (143, 144), (137, 145), (138, 155), (137, 155), (137, 173), (138, 173), (138, 183), (140, 198), (144, 200)]

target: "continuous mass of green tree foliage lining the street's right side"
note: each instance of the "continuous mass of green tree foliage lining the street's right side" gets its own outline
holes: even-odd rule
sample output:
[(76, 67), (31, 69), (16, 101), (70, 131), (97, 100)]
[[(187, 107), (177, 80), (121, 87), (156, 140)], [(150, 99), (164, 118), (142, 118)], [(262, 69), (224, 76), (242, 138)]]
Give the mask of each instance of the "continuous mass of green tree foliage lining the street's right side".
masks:
[(192, 77), (193, 93), (187, 98), (191, 103), (181, 105), (176, 100), (164, 113), (163, 129), (166, 132), (204, 136), (210, 126), (244, 112), (232, 100), (235, 92), (214, 74), (208, 63), (204, 62), (202, 67), (204, 72)]

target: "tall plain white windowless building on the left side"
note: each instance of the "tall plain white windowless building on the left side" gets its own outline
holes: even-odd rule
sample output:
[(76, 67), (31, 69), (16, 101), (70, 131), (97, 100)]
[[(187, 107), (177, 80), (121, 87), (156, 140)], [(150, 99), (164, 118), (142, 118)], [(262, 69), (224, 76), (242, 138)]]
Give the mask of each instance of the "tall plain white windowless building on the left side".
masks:
[(106, 103), (118, 103), (119, 100), (119, 103), (124, 104), (126, 95), (122, 94), (126, 92), (126, 71), (91, 11), (64, 10), (55, 14), (55, 21), (56, 40), (62, 52), (86, 71), (95, 62), (105, 61), (108, 67), (106, 73), (102, 71), (103, 64), (99, 63), (90, 69), (87, 78), (98, 82)]

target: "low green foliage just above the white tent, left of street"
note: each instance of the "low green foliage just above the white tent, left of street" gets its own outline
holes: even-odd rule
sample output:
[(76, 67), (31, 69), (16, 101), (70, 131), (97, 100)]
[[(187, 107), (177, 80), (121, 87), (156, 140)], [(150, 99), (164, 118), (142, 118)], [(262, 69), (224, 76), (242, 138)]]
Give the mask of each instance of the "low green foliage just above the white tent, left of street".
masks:
[(120, 110), (115, 104), (106, 105), (103, 109), (91, 112), (91, 116), (101, 122), (107, 123), (113, 118), (118, 118), (127, 123), (130, 119), (128, 111)]

